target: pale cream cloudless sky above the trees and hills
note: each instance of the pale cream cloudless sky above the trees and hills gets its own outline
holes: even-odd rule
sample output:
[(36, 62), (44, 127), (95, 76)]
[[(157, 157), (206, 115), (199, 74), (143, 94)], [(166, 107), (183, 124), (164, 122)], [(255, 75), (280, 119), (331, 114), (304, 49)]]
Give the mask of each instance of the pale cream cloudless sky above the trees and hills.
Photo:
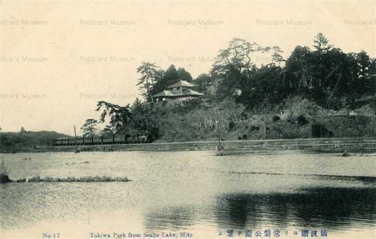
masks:
[[(232, 38), (312, 48), (322, 32), (345, 53), (376, 54), (376, 1), (0, 1), (0, 127), (73, 135), (96, 103), (141, 98), (149, 61), (208, 73)], [(253, 57), (267, 64), (268, 57)]]

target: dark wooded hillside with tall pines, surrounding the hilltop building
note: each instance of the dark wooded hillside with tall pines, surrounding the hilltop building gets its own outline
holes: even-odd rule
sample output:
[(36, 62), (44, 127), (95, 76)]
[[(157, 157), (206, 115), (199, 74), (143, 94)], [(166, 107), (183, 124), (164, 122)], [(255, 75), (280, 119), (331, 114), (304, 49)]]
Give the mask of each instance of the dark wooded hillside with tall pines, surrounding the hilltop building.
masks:
[[(297, 46), (287, 59), (280, 47), (233, 39), (208, 74), (196, 79), (171, 65), (142, 62), (144, 101), (118, 106), (98, 102), (102, 134), (147, 130), (161, 141), (376, 135), (376, 59), (344, 53), (322, 34), (313, 48)], [(266, 59), (257, 65), (255, 59)], [(187, 80), (203, 99), (158, 102), (152, 95)]]

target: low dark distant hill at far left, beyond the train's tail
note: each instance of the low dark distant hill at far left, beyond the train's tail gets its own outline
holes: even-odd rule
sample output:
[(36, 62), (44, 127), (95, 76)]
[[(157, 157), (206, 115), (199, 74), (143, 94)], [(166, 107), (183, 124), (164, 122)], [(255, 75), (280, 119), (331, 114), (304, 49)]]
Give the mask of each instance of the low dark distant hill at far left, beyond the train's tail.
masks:
[(52, 139), (59, 137), (71, 137), (55, 131), (22, 131), (18, 133), (0, 133), (0, 152), (24, 150), (35, 146), (50, 145)]

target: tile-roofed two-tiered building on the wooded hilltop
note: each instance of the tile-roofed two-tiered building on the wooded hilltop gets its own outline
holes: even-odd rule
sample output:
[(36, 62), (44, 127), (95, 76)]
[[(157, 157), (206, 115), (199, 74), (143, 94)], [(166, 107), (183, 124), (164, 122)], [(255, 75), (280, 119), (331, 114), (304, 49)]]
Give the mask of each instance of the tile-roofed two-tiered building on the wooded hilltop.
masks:
[(159, 92), (152, 96), (153, 101), (185, 101), (194, 98), (202, 97), (204, 94), (194, 91), (191, 88), (196, 86), (195, 84), (189, 83), (186, 80), (180, 80), (179, 82), (172, 84), (167, 87), (166, 90)]

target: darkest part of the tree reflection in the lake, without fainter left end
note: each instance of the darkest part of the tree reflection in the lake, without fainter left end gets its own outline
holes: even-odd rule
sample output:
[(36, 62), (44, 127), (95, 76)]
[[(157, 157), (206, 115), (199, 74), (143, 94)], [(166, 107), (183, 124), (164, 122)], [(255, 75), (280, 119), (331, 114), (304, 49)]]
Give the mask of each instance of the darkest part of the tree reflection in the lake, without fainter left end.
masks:
[(373, 227), (375, 200), (375, 188), (303, 188), (297, 193), (222, 195), (215, 211), (222, 227), (257, 228), (266, 222), (282, 228)]

